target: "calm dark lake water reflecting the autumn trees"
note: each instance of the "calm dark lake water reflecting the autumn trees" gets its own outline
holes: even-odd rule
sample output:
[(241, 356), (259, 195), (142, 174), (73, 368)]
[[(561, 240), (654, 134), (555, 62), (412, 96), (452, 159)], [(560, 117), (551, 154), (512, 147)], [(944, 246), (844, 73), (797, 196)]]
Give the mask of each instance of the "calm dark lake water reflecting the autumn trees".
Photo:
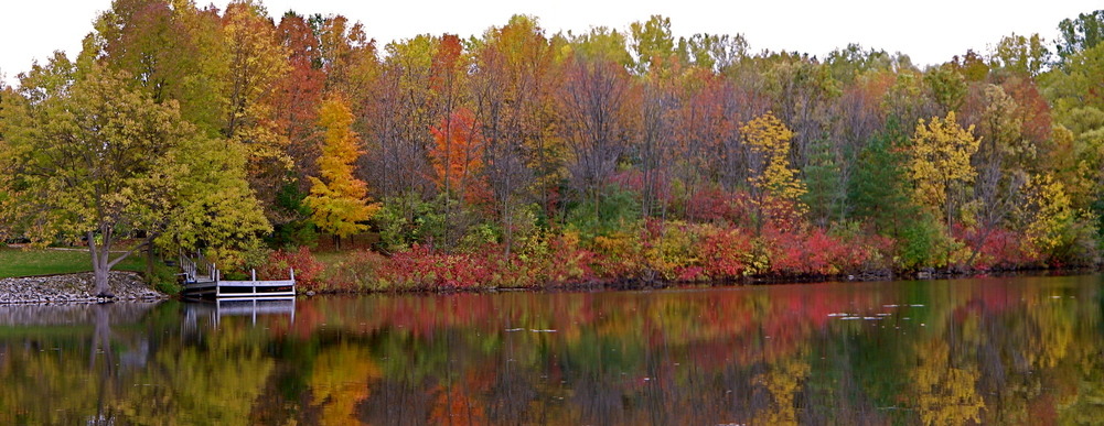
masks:
[(0, 307), (0, 424), (1101, 423), (1102, 283)]

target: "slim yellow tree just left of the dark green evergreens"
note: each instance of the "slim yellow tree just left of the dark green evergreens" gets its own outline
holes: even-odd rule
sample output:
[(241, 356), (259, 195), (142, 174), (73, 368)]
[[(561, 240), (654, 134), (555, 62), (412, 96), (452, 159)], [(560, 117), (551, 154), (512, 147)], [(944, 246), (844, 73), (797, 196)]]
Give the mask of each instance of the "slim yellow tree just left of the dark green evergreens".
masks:
[(789, 141), (794, 132), (774, 113), (767, 112), (740, 128), (740, 133), (758, 154), (753, 159), (749, 183), (761, 215), (781, 230), (793, 230), (808, 210), (800, 200), (808, 189), (789, 164)]

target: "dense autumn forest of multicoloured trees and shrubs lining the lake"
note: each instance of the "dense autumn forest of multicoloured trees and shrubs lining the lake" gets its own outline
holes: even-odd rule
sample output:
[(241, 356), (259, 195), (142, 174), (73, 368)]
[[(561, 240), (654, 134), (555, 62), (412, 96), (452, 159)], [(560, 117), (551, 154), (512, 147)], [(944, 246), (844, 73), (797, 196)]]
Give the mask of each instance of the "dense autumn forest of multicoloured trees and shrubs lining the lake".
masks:
[(203, 250), (322, 291), (1094, 266), (1104, 10), (1055, 24), (921, 68), (659, 15), (383, 44), (115, 0), (0, 86), (0, 241), (87, 244), (105, 282)]

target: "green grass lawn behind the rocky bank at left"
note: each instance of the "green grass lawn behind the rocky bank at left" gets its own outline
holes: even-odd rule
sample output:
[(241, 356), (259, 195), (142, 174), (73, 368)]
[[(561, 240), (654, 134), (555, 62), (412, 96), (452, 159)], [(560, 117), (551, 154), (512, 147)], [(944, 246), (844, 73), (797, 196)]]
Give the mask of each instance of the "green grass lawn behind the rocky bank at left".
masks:
[[(145, 271), (145, 258), (131, 254), (112, 270)], [(0, 248), (0, 278), (74, 272), (92, 272), (92, 256), (87, 251)]]

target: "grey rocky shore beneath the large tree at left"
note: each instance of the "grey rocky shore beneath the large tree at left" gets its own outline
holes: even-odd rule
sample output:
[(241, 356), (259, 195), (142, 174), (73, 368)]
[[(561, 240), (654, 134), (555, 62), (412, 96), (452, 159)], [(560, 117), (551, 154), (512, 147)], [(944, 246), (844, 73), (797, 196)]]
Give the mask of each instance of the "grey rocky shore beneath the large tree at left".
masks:
[(50, 276), (28, 276), (0, 280), (0, 305), (7, 304), (59, 304), (59, 303), (103, 303), (138, 302), (167, 298), (132, 272), (112, 272), (110, 286), (115, 298), (95, 297), (93, 274), (65, 274)]

